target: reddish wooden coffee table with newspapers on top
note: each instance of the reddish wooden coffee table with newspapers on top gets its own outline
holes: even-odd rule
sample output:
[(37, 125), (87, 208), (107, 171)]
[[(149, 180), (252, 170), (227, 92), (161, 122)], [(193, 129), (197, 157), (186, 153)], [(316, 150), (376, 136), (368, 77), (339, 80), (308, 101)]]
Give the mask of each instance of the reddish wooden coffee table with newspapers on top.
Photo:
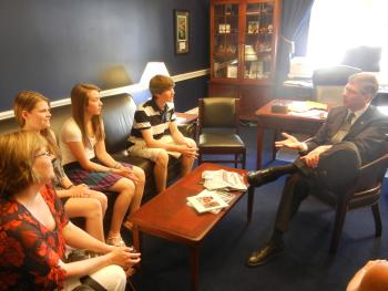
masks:
[[(141, 250), (140, 231), (180, 242), (190, 248), (192, 290), (198, 290), (200, 247), (202, 241), (245, 194), (244, 191), (233, 191), (236, 198), (227, 208), (216, 215), (212, 212), (197, 214), (194, 208), (186, 205), (186, 197), (194, 196), (203, 190), (201, 175), (207, 169), (226, 169), (246, 174), (244, 169), (202, 164), (191, 174), (144, 204), (131, 219), (133, 222), (133, 245), (137, 250)], [(249, 195), (253, 195), (253, 193), (249, 191)], [(252, 216), (253, 197), (249, 198), (247, 206), (248, 221)]]

